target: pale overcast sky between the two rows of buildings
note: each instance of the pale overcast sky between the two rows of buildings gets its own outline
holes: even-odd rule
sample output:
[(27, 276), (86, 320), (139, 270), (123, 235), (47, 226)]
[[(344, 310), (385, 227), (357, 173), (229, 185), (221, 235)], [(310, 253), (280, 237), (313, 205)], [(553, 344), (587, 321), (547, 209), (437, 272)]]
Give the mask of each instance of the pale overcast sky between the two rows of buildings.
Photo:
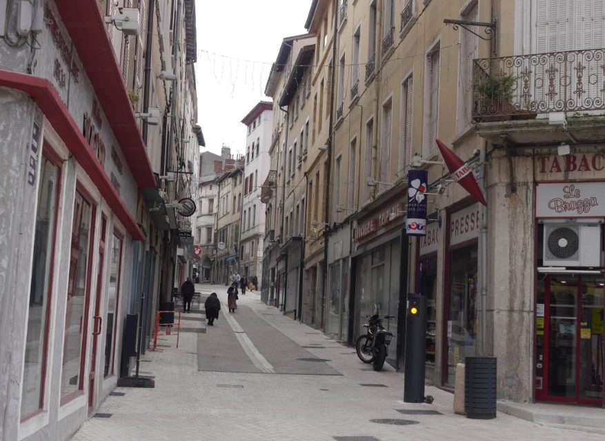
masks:
[(240, 121), (264, 96), (271, 63), (284, 37), (304, 34), (311, 0), (197, 2), (198, 123), (202, 152), (244, 153)]

